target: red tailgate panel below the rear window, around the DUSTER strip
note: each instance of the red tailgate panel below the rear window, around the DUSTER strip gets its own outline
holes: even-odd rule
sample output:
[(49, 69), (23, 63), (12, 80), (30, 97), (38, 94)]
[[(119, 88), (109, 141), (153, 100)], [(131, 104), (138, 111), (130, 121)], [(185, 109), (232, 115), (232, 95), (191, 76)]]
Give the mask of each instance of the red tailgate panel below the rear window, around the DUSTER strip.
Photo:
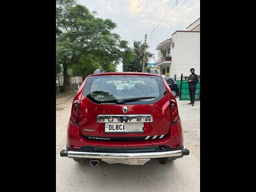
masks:
[[(83, 135), (109, 137), (110, 134), (104, 133), (105, 123), (98, 123), (97, 116), (103, 114), (120, 115), (124, 114), (122, 108), (127, 106), (126, 115), (132, 114), (151, 114), (153, 122), (144, 123), (144, 133), (118, 133), (111, 134), (112, 137), (139, 137), (149, 135), (165, 135), (170, 130), (170, 102), (168, 95), (154, 104), (137, 105), (105, 105), (95, 104), (82, 95), (79, 111), (79, 128)], [(103, 113), (104, 112), (104, 113)], [(157, 128), (157, 129), (156, 129)], [(94, 132), (84, 131), (84, 129), (94, 129)]]

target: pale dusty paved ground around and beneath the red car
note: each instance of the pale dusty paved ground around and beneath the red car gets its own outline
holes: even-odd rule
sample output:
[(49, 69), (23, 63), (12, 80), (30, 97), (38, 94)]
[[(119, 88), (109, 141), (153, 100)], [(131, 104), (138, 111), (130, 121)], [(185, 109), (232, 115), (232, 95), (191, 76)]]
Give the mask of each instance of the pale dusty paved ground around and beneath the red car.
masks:
[(184, 147), (190, 155), (162, 165), (157, 159), (143, 166), (107, 164), (93, 168), (60, 157), (65, 149), (66, 129), (74, 94), (56, 99), (56, 191), (57, 192), (199, 192), (200, 102), (178, 101)]

